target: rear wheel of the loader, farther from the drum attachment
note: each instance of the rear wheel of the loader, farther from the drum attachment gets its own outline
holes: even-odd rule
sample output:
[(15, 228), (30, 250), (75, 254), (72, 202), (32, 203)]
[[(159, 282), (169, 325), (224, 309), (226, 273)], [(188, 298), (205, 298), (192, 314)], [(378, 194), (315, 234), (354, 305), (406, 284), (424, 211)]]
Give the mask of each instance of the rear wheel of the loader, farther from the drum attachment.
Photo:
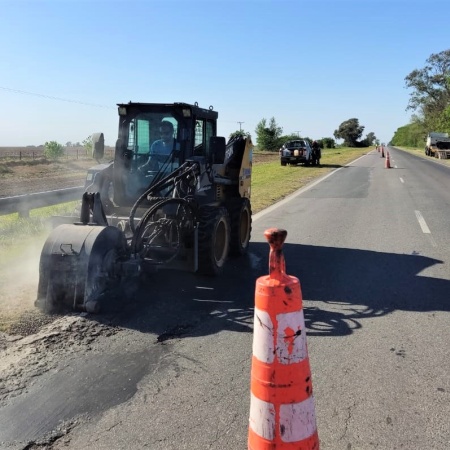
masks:
[(252, 233), (252, 209), (248, 198), (234, 198), (227, 204), (231, 222), (230, 255), (247, 253)]

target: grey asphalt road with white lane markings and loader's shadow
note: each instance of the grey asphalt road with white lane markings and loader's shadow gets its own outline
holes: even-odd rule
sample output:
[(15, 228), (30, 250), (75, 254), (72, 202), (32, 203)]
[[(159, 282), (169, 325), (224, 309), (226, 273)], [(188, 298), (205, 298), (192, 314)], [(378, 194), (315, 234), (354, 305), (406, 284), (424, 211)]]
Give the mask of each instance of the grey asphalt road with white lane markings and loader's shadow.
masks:
[(219, 279), (160, 272), (121, 307), (14, 343), (8, 357), (28, 359), (1, 403), (0, 447), (247, 448), (254, 287), (264, 230), (279, 227), (321, 449), (450, 448), (450, 169), (390, 156), (391, 169), (370, 152), (255, 215), (250, 254)]

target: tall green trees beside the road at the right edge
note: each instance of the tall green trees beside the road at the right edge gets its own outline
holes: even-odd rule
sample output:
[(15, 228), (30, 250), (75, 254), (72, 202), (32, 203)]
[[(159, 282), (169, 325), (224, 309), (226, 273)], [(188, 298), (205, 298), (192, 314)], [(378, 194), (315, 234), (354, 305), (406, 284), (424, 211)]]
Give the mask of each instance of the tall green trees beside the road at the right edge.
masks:
[(406, 110), (411, 121), (397, 129), (392, 145), (421, 147), (430, 131), (450, 134), (450, 50), (433, 53), (421, 69), (405, 77), (412, 89)]

